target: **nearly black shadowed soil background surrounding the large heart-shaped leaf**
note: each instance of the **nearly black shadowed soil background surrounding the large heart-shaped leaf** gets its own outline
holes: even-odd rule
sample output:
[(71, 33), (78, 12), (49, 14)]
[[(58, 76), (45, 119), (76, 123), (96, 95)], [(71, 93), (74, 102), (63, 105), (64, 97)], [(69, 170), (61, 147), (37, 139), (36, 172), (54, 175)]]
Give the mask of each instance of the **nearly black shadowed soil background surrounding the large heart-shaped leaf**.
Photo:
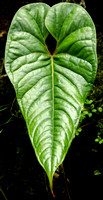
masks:
[[(18, 8), (32, 2), (0, 2), (0, 200), (89, 200), (96, 196), (101, 200), (103, 144), (96, 143), (95, 138), (98, 122), (103, 123), (103, 113), (94, 113), (92, 118), (87, 117), (82, 122), (82, 133), (75, 137), (64, 163), (54, 175), (53, 198), (47, 176), (30, 143), (15, 91), (6, 76), (4, 51), (11, 20)], [(53, 5), (60, 1), (43, 2)], [(88, 98), (99, 107), (103, 105), (103, 27), (100, 15), (96, 17), (101, 6), (95, 2), (90, 5), (86, 1), (97, 29), (99, 58), (97, 78)]]

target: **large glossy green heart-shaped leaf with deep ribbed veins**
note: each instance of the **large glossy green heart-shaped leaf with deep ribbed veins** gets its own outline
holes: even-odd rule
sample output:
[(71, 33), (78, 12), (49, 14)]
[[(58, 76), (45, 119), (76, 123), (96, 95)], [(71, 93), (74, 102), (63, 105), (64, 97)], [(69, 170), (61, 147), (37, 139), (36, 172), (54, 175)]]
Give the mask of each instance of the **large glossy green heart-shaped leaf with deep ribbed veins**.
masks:
[[(53, 55), (45, 43), (48, 34), (57, 41)], [(69, 3), (20, 8), (9, 29), (5, 68), (52, 189), (53, 174), (75, 137), (96, 75), (96, 32), (91, 17), (79, 5)]]

